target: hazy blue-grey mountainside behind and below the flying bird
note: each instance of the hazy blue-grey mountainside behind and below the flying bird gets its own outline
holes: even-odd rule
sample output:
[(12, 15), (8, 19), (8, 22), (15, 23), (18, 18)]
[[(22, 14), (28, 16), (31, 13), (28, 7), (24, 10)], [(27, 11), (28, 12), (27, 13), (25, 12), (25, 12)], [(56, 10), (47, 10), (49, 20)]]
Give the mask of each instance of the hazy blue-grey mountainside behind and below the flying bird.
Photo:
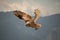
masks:
[(13, 12), (0, 12), (0, 40), (60, 40), (60, 14), (40, 17), (38, 30), (26, 28)]

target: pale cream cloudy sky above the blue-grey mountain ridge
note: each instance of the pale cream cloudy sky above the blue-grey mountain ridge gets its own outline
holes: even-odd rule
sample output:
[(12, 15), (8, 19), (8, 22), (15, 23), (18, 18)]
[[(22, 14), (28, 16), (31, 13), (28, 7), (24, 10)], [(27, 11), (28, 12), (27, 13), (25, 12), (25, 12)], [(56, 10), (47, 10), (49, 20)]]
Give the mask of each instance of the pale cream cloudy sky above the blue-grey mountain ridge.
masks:
[(60, 13), (60, 0), (0, 0), (0, 11), (21, 10), (33, 15), (39, 8), (41, 16)]

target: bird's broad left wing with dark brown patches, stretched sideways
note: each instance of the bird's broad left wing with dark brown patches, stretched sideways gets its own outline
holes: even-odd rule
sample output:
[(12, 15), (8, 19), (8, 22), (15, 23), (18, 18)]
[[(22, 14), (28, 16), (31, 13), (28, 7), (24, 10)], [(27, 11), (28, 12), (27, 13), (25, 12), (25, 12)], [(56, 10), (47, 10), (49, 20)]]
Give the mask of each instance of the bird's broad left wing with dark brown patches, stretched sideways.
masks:
[(32, 20), (32, 17), (30, 15), (22, 11), (15, 10), (14, 15), (17, 16), (19, 19), (24, 20), (25, 22)]

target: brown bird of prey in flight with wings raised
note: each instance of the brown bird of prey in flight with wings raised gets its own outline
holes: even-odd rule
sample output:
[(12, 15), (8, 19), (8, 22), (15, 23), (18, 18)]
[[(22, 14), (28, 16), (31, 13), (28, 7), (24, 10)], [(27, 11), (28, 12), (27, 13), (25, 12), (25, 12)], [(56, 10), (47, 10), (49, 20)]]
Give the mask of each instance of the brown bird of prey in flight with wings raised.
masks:
[(32, 18), (29, 14), (27, 14), (25, 12), (22, 12), (22, 11), (15, 10), (13, 12), (14, 12), (14, 15), (16, 17), (25, 21), (25, 26), (26, 27), (32, 27), (32, 28), (35, 28), (35, 30), (37, 30), (38, 28), (41, 27), (41, 24), (36, 23), (36, 21), (40, 17), (40, 10), (39, 9), (34, 10), (34, 14), (35, 14), (34, 18)]

